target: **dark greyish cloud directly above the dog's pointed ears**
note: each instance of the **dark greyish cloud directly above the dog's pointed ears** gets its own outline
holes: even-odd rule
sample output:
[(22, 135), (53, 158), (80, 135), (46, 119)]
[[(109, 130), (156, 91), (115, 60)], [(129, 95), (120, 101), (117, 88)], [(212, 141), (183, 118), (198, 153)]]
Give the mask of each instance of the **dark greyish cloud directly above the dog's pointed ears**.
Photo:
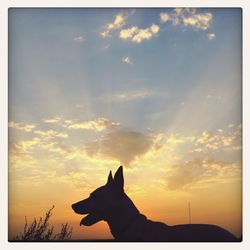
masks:
[(90, 156), (100, 154), (103, 157), (116, 159), (129, 166), (136, 158), (143, 156), (154, 145), (153, 137), (143, 133), (121, 129), (106, 134), (101, 140), (86, 145)]

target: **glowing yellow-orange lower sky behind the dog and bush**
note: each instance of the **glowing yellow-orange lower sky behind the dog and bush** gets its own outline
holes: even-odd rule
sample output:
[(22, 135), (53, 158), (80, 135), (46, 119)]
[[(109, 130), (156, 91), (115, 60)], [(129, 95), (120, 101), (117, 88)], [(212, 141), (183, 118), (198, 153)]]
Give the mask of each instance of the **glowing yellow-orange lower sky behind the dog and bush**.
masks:
[[(152, 220), (163, 221), (168, 225), (188, 223), (188, 202), (191, 203), (192, 223), (212, 223), (220, 225), (236, 235), (241, 234), (241, 178), (239, 166), (226, 166), (229, 173), (221, 169), (216, 177), (202, 177), (176, 189), (167, 187), (167, 171), (159, 165), (140, 159), (134, 168), (125, 168), (125, 191), (134, 201), (141, 213)], [(164, 154), (165, 155), (165, 154)], [(146, 158), (146, 157), (145, 157)], [(156, 160), (155, 159), (155, 160)], [(93, 159), (90, 159), (93, 160)], [(98, 163), (99, 162), (99, 163)], [(42, 178), (31, 177), (27, 180), (13, 181), (9, 184), (9, 233), (10, 237), (21, 230), (24, 216), (31, 221), (44, 215), (53, 204), (55, 209), (51, 223), (55, 225), (69, 222), (73, 226), (72, 238), (110, 238), (109, 229), (103, 222), (93, 227), (79, 226), (81, 215), (74, 214), (71, 204), (85, 197), (95, 188), (106, 183), (108, 170), (116, 170), (115, 161), (100, 159), (88, 163), (88, 170), (71, 175), (69, 178), (57, 177), (53, 170)], [(141, 162), (141, 163), (140, 163)], [(140, 168), (139, 166), (144, 168)], [(103, 167), (103, 165), (105, 167)], [(110, 165), (110, 167), (108, 167)], [(113, 166), (111, 166), (113, 165)], [(52, 165), (51, 165), (52, 167)], [(208, 169), (211, 171), (210, 167)], [(31, 170), (32, 171), (32, 170)], [(232, 172), (235, 172), (233, 176)], [(88, 173), (88, 174), (87, 174)], [(12, 175), (10, 175), (12, 176)], [(12, 177), (13, 178), (13, 177)], [(218, 191), (219, 190), (219, 191)]]

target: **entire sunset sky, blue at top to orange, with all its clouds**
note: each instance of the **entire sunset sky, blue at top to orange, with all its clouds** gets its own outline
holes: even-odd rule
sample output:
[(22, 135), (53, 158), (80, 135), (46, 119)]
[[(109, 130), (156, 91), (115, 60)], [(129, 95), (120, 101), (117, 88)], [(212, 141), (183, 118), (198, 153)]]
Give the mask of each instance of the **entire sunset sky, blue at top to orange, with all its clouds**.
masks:
[(9, 9), (9, 238), (124, 166), (141, 213), (242, 233), (241, 9)]

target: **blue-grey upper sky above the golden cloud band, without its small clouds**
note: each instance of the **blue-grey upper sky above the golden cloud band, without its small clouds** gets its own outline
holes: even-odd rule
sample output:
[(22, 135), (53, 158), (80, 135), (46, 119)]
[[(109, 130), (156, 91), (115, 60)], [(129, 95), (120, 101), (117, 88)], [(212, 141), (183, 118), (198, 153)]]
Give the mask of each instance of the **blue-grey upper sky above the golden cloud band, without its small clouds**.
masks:
[[(163, 129), (190, 92), (201, 88), (204, 93), (199, 95), (204, 95), (204, 101), (207, 95), (237, 91), (234, 98), (238, 100), (229, 104), (232, 107), (224, 107), (228, 106), (226, 101), (224, 105), (209, 105), (218, 105), (215, 112), (230, 108), (231, 115), (225, 114), (222, 125), (236, 119), (238, 122), (241, 10), (197, 10), (213, 14), (206, 30), (161, 23), (161, 12), (170, 14), (173, 9), (11, 10), (10, 117), (104, 116), (122, 119), (136, 128), (143, 123), (143, 128), (155, 124), (156, 129)], [(105, 24), (119, 13), (128, 15), (123, 29), (134, 25), (147, 28), (155, 23), (160, 31), (140, 44), (119, 39), (119, 29), (112, 32), (112, 37), (101, 38), (99, 33)], [(208, 34), (216, 38), (208, 40)], [(83, 41), (74, 41), (76, 37)], [(122, 63), (125, 57), (133, 64)], [(112, 101), (113, 94), (129, 91), (141, 91), (145, 98)], [(75, 105), (83, 105), (85, 110), (79, 111)], [(236, 112), (233, 106), (237, 106)], [(151, 119), (160, 111), (166, 120)]]

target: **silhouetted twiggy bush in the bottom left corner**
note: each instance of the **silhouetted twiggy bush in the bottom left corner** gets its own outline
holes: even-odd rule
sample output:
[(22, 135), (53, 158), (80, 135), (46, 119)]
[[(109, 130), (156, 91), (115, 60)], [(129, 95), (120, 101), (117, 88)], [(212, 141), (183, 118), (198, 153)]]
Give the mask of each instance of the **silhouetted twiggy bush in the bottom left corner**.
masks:
[(45, 217), (40, 217), (39, 220), (34, 218), (33, 222), (28, 225), (27, 218), (25, 216), (25, 224), (23, 232), (14, 237), (14, 241), (67, 241), (71, 238), (72, 227), (68, 223), (62, 224), (61, 231), (54, 234), (54, 226), (49, 226), (49, 219), (52, 216), (52, 210), (54, 206), (50, 208)]

